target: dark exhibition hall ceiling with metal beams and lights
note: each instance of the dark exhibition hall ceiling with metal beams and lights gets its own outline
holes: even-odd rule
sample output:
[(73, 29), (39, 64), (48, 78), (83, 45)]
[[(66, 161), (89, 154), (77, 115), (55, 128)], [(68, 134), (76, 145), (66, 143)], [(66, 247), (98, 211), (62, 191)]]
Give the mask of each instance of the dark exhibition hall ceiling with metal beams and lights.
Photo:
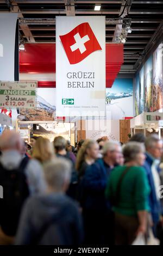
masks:
[(124, 43), (121, 72), (135, 72), (154, 35), (162, 32), (163, 1), (0, 0), (0, 13), (8, 12), (18, 13), (21, 40), (29, 43), (55, 42), (55, 16), (104, 15), (106, 42)]

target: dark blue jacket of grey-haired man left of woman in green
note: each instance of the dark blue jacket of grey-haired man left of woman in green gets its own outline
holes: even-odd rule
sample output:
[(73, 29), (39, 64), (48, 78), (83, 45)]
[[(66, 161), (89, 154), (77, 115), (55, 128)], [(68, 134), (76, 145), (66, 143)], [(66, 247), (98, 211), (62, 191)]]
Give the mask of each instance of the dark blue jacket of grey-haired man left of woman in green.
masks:
[(103, 159), (98, 159), (86, 169), (82, 181), (86, 195), (83, 200), (84, 209), (96, 211), (106, 211), (110, 209), (110, 204), (108, 200), (105, 199), (107, 181), (108, 175)]

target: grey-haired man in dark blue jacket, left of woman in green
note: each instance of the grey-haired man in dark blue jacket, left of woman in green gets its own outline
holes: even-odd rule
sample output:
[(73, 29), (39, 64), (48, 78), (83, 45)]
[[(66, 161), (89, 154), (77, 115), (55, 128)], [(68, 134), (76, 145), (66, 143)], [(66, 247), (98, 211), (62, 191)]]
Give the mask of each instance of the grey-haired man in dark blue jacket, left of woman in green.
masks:
[(122, 155), (120, 143), (106, 142), (103, 155), (103, 159), (98, 159), (86, 170), (83, 180), (85, 242), (96, 245), (114, 243), (114, 218), (105, 199), (105, 188), (111, 170)]

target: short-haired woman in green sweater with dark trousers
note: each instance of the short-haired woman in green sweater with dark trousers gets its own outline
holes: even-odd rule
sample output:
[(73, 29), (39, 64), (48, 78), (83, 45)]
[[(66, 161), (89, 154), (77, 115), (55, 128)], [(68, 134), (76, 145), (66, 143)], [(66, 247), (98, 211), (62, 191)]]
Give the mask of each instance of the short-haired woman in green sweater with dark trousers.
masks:
[(123, 148), (124, 166), (112, 170), (106, 197), (115, 211), (116, 245), (131, 245), (137, 234), (146, 233), (150, 188), (145, 169), (145, 148), (129, 142)]

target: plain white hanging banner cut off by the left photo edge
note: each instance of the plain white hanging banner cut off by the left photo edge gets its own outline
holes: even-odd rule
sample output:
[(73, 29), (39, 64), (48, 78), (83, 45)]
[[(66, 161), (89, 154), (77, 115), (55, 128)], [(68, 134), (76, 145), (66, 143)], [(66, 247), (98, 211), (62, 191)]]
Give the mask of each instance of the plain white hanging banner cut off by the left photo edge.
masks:
[(14, 81), (17, 14), (0, 14), (0, 81)]

